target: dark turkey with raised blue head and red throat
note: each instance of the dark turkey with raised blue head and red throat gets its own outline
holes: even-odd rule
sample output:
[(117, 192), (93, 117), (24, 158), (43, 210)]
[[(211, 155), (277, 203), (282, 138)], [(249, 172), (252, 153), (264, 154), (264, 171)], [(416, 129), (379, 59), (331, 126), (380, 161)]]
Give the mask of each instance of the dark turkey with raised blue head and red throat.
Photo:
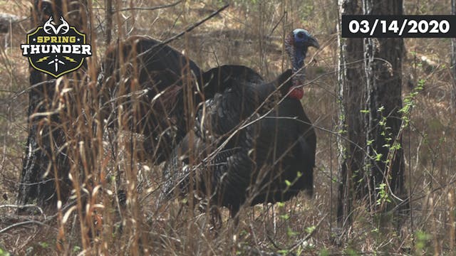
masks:
[(319, 46), (304, 29), (290, 33), (285, 46), (293, 70), (272, 82), (239, 65), (202, 75), (207, 100), (165, 165), (162, 199), (194, 190), (234, 216), (244, 203), (312, 193), (316, 134), (299, 99), (307, 49)]

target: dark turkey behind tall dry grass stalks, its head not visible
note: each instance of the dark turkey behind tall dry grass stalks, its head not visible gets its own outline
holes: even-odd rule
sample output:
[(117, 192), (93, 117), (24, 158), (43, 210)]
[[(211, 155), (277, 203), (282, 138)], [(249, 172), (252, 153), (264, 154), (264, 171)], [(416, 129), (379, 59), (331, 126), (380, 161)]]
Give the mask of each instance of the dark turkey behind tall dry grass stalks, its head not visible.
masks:
[(115, 127), (122, 106), (124, 125), (147, 136), (147, 156), (160, 164), (186, 134), (185, 114), (192, 113), (185, 110), (201, 101), (192, 93), (201, 74), (192, 60), (152, 38), (119, 41), (106, 51), (99, 78), (103, 119)]

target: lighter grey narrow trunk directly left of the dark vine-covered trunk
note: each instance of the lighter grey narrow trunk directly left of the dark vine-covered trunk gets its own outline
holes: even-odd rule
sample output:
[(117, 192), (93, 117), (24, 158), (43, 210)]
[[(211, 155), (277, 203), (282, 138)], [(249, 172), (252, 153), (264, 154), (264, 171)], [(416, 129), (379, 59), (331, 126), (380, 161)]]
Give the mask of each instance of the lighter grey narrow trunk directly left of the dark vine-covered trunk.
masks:
[[(341, 15), (360, 14), (358, 0), (340, 0)], [(339, 59), (339, 97), (340, 97), (340, 131), (347, 140), (339, 139), (340, 183), (337, 208), (338, 223), (350, 223), (353, 192), (363, 167), (366, 146), (366, 135), (361, 110), (365, 108), (366, 87), (363, 72), (363, 39), (340, 38)], [(355, 178), (356, 177), (356, 178)], [(353, 182), (354, 181), (354, 182)]]

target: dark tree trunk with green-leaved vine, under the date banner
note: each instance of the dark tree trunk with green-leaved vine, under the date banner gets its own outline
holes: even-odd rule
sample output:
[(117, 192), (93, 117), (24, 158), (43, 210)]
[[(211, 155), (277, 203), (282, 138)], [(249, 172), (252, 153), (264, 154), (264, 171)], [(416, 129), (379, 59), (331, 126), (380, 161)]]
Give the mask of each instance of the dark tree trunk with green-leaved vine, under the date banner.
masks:
[[(363, 0), (366, 15), (403, 14), (402, 0)], [(362, 195), (371, 210), (405, 195), (402, 149), (403, 38), (366, 38), (366, 173)], [(394, 204), (394, 203), (393, 203)]]

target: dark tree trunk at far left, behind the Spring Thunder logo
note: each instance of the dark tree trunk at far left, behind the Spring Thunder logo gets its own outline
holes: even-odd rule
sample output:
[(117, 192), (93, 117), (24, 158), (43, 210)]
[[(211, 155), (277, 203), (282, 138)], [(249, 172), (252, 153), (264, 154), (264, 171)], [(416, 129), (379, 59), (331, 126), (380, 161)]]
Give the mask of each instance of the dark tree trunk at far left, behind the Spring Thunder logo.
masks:
[[(66, 20), (81, 31), (81, 14), (75, 10), (78, 4), (67, 1), (34, 1), (33, 27), (41, 26), (53, 15), (54, 20), (63, 11), (70, 13)], [(56, 201), (64, 201), (71, 190), (68, 178), (70, 164), (66, 154), (65, 132), (57, 110), (59, 95), (54, 95), (56, 79), (30, 68), (30, 91), (28, 92), (28, 137), (23, 159), (21, 182), (17, 203), (36, 203), (42, 208), (55, 208)]]

